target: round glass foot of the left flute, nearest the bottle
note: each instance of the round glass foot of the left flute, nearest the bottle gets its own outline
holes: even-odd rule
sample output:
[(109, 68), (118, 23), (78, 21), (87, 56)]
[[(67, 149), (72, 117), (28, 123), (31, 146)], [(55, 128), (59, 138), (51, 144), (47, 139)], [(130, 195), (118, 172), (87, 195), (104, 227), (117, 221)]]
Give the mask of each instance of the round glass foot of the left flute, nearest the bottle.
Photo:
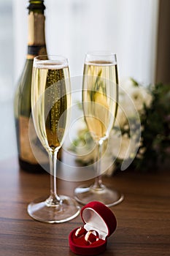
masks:
[(72, 197), (60, 195), (62, 203), (49, 206), (47, 197), (34, 200), (28, 205), (28, 214), (39, 222), (61, 223), (77, 217), (80, 206)]

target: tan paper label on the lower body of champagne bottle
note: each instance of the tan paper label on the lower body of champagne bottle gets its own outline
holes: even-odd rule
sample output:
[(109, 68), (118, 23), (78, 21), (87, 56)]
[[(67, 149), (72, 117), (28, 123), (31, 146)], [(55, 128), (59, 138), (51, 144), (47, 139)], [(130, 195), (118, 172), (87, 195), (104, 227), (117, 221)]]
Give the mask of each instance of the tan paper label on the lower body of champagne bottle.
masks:
[(19, 129), (20, 158), (32, 165), (36, 165), (38, 162), (39, 164), (47, 163), (47, 154), (36, 136), (32, 119), (26, 116), (20, 116)]

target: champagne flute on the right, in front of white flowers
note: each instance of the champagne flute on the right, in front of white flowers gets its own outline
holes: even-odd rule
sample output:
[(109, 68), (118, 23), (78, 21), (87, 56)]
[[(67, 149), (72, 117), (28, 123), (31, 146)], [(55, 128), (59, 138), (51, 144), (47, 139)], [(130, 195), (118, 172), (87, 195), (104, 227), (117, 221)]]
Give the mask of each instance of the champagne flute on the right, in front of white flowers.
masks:
[(86, 204), (93, 200), (106, 206), (114, 206), (123, 200), (123, 195), (107, 188), (102, 183), (102, 157), (109, 132), (115, 123), (118, 101), (118, 75), (116, 55), (107, 52), (92, 52), (85, 55), (82, 86), (82, 105), (85, 122), (96, 143), (96, 178), (94, 184), (82, 185), (74, 190), (76, 200)]

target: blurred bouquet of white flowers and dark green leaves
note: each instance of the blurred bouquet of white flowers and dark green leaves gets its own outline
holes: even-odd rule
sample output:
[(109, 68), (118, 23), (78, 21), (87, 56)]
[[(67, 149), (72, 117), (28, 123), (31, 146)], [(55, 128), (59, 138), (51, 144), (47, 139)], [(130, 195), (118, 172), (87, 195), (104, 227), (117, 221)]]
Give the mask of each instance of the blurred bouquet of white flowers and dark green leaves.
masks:
[[(80, 127), (71, 150), (79, 153), (77, 160), (84, 165), (95, 159), (95, 150), (90, 148), (94, 148), (90, 133), (87, 127)], [(104, 157), (105, 162), (112, 162), (106, 173), (111, 175), (128, 167), (155, 170), (169, 156), (170, 85), (158, 83), (144, 87), (131, 78), (122, 81), (115, 127)]]

